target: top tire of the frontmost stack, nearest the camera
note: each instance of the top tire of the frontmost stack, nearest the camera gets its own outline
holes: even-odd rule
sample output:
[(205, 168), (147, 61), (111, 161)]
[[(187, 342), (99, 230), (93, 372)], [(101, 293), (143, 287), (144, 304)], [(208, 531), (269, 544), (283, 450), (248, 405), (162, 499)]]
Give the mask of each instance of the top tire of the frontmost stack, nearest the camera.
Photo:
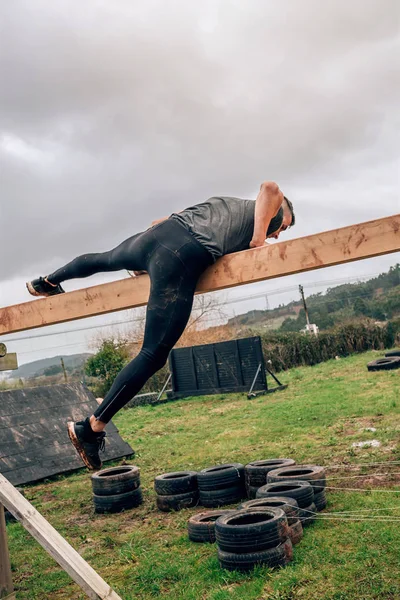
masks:
[(288, 535), (288, 521), (280, 508), (236, 510), (215, 522), (218, 548), (225, 552), (259, 552), (278, 546)]

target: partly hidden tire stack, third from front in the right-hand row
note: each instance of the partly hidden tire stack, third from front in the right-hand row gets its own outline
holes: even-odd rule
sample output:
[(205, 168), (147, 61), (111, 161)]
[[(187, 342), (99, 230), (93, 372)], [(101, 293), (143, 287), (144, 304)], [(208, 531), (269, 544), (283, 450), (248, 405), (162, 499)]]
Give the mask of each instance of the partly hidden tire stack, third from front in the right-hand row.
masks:
[[(290, 468), (290, 467), (289, 467)], [(259, 488), (257, 498), (284, 496), (294, 498), (298, 504), (298, 518), (303, 527), (315, 521), (314, 490), (308, 481), (282, 481), (267, 483)]]

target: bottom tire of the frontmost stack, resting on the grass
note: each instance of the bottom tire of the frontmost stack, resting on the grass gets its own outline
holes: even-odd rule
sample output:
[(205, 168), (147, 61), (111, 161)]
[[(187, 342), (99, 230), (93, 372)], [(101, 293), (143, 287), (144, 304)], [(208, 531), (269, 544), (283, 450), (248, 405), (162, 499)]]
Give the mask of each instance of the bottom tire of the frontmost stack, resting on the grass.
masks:
[(256, 565), (266, 565), (270, 568), (283, 567), (293, 558), (293, 546), (289, 538), (276, 546), (262, 552), (247, 552), (236, 554), (225, 552), (218, 548), (218, 560), (223, 569), (228, 571), (251, 571)]

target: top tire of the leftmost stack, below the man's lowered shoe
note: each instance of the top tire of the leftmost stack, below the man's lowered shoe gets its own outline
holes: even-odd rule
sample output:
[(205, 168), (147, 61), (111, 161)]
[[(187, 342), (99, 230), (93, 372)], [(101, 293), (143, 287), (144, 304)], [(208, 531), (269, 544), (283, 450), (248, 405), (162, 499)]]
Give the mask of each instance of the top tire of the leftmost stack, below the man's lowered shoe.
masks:
[(91, 477), (96, 496), (125, 494), (140, 487), (140, 469), (134, 465), (102, 469)]

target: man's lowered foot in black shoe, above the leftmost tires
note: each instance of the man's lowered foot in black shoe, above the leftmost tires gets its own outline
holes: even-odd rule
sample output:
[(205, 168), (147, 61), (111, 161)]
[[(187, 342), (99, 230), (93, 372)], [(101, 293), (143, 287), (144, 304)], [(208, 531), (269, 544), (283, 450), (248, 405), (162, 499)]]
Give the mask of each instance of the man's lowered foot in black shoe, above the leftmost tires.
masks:
[(85, 465), (89, 469), (101, 469), (102, 462), (99, 452), (104, 452), (105, 432), (95, 433), (90, 426), (89, 418), (87, 418), (77, 423), (68, 421), (68, 435)]

